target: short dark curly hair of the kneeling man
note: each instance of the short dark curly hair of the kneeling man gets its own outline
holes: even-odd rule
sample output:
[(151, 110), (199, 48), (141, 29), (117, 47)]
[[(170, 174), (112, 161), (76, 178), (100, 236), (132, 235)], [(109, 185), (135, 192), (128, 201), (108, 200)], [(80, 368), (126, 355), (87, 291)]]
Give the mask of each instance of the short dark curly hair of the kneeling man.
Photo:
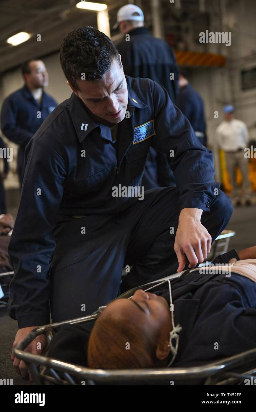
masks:
[(63, 39), (60, 49), (62, 70), (76, 90), (76, 80), (101, 80), (110, 70), (113, 59), (120, 62), (118, 51), (110, 38), (97, 28), (82, 26), (71, 30)]

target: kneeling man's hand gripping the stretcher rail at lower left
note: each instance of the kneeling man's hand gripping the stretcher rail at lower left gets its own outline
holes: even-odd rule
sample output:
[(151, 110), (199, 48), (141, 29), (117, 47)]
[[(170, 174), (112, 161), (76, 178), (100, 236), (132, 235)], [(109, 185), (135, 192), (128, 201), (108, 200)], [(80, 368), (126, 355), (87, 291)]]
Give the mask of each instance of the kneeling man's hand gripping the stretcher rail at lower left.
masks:
[[(28, 368), (25, 364), (24, 361), (21, 361), (21, 359), (15, 358), (14, 356), (14, 348), (23, 340), (25, 337), (31, 332), (31, 330), (37, 328), (37, 326), (30, 326), (28, 328), (21, 328), (18, 330), (16, 333), (14, 343), (12, 346), (12, 355), (11, 359), (13, 361), (13, 366), (15, 371), (18, 373), (18, 375), (21, 375), (22, 377), (26, 378), (28, 377)], [(39, 343), (41, 345), (39, 345)], [(41, 346), (41, 349), (37, 349), (39, 346)], [(48, 350), (48, 344), (46, 341), (46, 336), (45, 335), (38, 335), (31, 343), (30, 345), (25, 349), (26, 352), (33, 353), (34, 355), (41, 355), (41, 353), (44, 355)], [(30, 380), (32, 380), (31, 375), (29, 374)]]

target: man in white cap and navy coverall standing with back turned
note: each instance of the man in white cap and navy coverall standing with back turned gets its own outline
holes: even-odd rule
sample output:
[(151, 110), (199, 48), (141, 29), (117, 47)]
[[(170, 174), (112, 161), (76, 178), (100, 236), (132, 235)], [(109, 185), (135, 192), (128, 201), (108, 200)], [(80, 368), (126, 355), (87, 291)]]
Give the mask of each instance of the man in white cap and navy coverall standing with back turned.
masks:
[[(122, 56), (125, 74), (147, 77), (161, 84), (176, 104), (179, 72), (171, 47), (164, 40), (150, 34), (144, 27), (143, 11), (135, 5), (127, 4), (118, 10), (117, 22), (113, 28), (118, 26), (124, 38), (116, 47)], [(173, 80), (170, 80), (171, 73)], [(142, 185), (144, 190), (175, 185), (166, 155), (157, 153), (152, 147), (148, 153)]]

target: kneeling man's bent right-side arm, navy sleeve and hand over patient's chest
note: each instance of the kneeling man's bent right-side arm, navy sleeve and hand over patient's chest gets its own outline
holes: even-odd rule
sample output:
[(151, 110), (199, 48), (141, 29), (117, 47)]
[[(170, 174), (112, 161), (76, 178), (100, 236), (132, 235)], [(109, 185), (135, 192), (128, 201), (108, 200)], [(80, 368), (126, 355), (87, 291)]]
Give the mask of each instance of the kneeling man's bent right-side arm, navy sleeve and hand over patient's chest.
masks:
[(174, 250), (181, 271), (185, 255), (189, 267), (203, 262), (210, 251), (211, 236), (201, 224), (215, 198), (213, 155), (198, 141), (187, 118), (171, 102), (164, 88), (154, 83), (155, 131), (152, 147), (165, 153), (179, 193), (180, 217)]

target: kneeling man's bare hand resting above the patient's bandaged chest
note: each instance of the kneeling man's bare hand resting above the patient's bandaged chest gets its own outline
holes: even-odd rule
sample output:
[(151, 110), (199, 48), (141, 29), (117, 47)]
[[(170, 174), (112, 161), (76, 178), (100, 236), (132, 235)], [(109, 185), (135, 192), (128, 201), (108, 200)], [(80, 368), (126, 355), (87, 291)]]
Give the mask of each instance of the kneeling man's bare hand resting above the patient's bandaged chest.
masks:
[(185, 267), (185, 255), (189, 260), (189, 267), (195, 267), (207, 258), (211, 250), (212, 238), (201, 224), (202, 213), (201, 209), (196, 208), (185, 208), (180, 212), (174, 243), (179, 262), (177, 272), (181, 272)]

